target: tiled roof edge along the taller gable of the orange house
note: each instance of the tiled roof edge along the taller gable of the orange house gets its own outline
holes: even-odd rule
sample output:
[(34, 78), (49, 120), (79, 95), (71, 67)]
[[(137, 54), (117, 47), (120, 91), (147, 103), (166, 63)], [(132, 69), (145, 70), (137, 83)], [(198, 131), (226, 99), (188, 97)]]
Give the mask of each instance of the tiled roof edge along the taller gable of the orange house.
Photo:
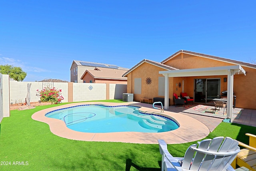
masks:
[(247, 67), (251, 67), (251, 68), (256, 68), (255, 64), (250, 64), (250, 63), (236, 61), (236, 60), (230, 60), (230, 59), (227, 59), (227, 58), (220, 58), (218, 56), (200, 54), (200, 53), (197, 53), (197, 52), (191, 52), (191, 51), (187, 51), (187, 50), (179, 50), (178, 52), (174, 53), (172, 56), (170, 56), (170, 57), (166, 58), (165, 60), (163, 60), (161, 63), (167, 62), (168, 60), (172, 59), (174, 56), (176, 56), (176, 55), (178, 55), (180, 53), (191, 54), (191, 55), (200, 56), (200, 57), (204, 57), (204, 58), (210, 58), (210, 59), (214, 59), (214, 60), (228, 62), (230, 64), (238, 64), (238, 65), (241, 65), (241, 66), (247, 66)]

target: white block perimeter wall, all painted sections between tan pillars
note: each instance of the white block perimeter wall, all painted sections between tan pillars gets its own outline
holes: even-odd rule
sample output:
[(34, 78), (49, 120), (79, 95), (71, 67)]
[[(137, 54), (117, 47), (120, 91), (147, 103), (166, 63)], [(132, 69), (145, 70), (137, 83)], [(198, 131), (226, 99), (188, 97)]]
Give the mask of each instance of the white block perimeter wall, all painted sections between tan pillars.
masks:
[[(36, 102), (40, 98), (36, 96), (36, 90), (42, 90), (45, 83), (42, 82), (17, 82), (9, 81), (8, 75), (0, 74), (0, 122), (3, 117), (10, 116), (10, 103), (25, 103), (28, 93), (28, 84), (30, 87), (30, 102)], [(68, 102), (68, 83), (54, 83), (56, 89), (62, 90), (64, 100)], [(92, 89), (89, 87), (92, 86)], [(126, 93), (126, 84), (110, 84), (109, 99), (122, 99), (122, 94)], [(92, 83), (74, 83), (73, 84), (73, 101), (91, 101), (106, 100), (106, 84)]]

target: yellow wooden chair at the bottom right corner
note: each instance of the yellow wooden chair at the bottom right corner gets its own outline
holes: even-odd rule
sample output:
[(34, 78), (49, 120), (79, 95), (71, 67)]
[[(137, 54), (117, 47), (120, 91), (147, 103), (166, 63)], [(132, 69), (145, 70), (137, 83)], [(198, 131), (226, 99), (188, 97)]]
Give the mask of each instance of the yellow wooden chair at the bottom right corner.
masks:
[(236, 159), (232, 162), (232, 167), (246, 167), (250, 171), (256, 171), (256, 135), (246, 133), (249, 136), (249, 145), (239, 142), (239, 145), (245, 147), (237, 154)]

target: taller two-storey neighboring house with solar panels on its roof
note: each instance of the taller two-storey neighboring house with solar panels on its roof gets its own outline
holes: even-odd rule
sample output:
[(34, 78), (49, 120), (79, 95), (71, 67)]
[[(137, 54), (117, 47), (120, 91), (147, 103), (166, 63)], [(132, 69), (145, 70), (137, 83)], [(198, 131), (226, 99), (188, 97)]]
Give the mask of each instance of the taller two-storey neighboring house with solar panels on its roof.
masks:
[(84, 72), (86, 70), (94, 70), (94, 68), (96, 67), (128, 70), (127, 68), (122, 68), (116, 65), (74, 60), (70, 68), (70, 82), (82, 83), (83, 80), (81, 80), (80, 78), (82, 77)]

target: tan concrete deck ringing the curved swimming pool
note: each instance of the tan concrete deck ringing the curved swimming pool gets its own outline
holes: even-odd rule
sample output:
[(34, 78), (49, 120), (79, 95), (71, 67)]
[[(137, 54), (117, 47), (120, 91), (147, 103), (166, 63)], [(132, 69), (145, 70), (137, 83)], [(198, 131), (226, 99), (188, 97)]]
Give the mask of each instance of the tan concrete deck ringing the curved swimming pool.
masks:
[[(105, 142), (123, 142), (123, 143), (144, 143), (144, 144), (157, 144), (158, 139), (164, 139), (168, 144), (186, 143), (191, 141), (197, 141), (206, 137), (210, 131), (206, 125), (202, 122), (180, 113), (174, 113), (170, 111), (164, 111), (160, 113), (159, 109), (152, 109), (148, 107), (141, 107), (139, 110), (144, 113), (154, 113), (157, 115), (165, 115), (170, 117), (174, 121), (176, 120), (180, 127), (173, 131), (161, 132), (161, 133), (141, 133), (141, 132), (114, 132), (114, 133), (84, 133), (74, 131), (66, 127), (64, 121), (54, 118), (46, 117), (45, 114), (65, 107), (72, 107), (83, 104), (102, 104), (106, 106), (116, 105), (136, 105), (136, 102), (127, 103), (108, 103), (108, 102), (84, 102), (84, 103), (70, 103), (61, 105), (58, 107), (51, 107), (43, 109), (32, 115), (32, 119), (47, 123), (50, 127), (50, 131), (55, 135), (64, 137), (67, 139), (74, 139), (80, 141), (105, 141)], [(139, 103), (138, 103), (139, 105)]]

